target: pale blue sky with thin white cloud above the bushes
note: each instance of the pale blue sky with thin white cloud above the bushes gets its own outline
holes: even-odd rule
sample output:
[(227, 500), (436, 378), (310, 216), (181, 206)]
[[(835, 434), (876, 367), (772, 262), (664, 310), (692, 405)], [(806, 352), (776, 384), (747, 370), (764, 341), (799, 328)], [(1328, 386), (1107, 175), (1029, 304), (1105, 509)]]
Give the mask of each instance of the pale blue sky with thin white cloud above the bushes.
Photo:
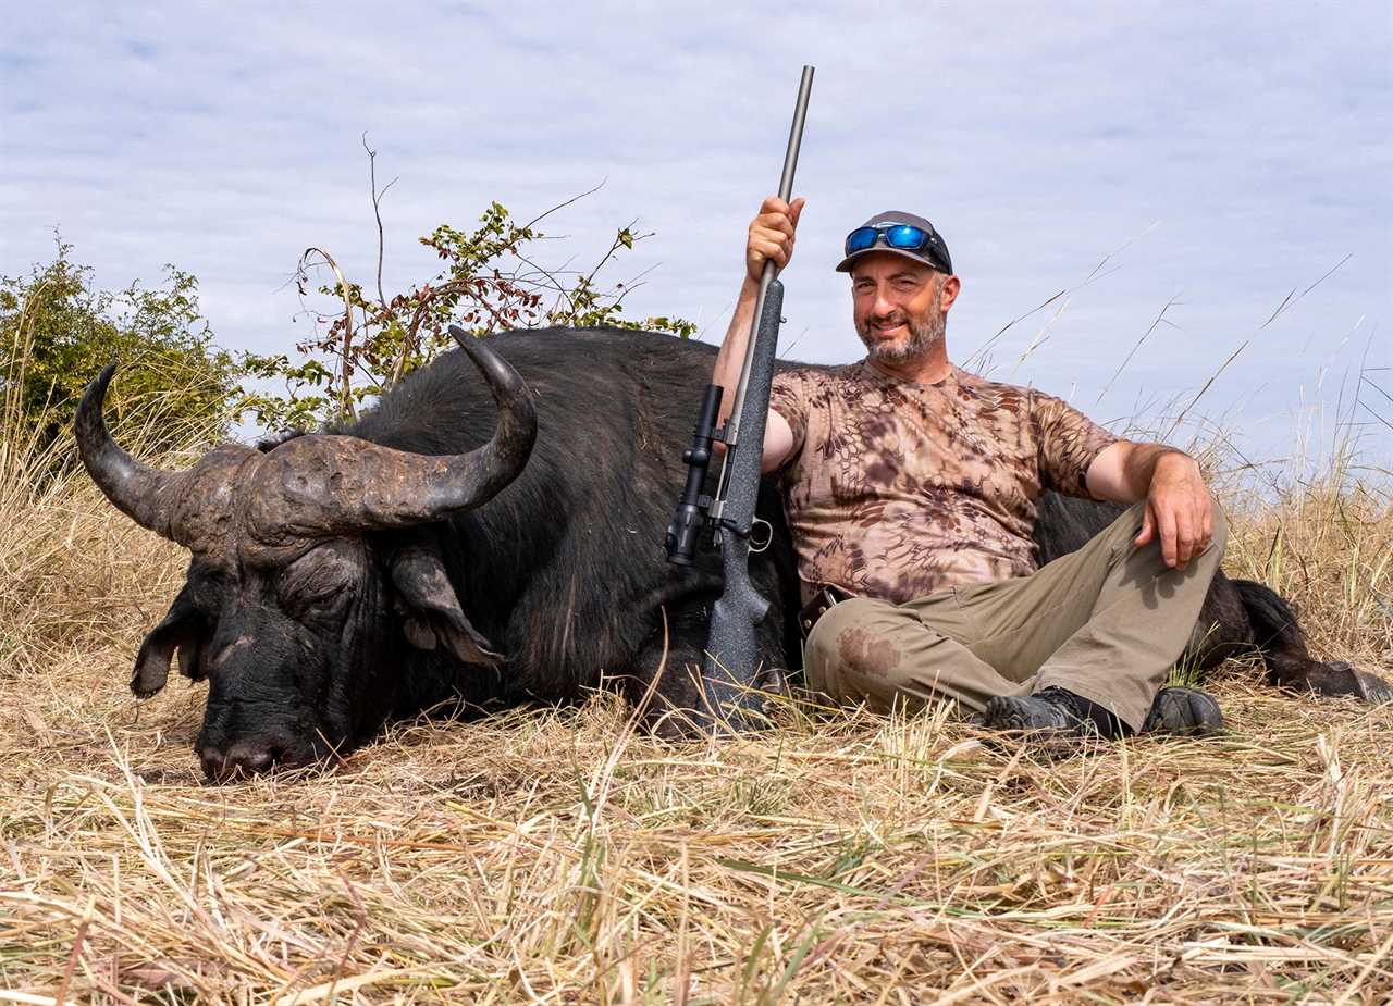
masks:
[(956, 362), (1119, 431), (1166, 431), (1204, 390), (1188, 415), (1208, 424), (1173, 440), (1220, 427), (1272, 465), (1346, 420), (1393, 463), (1387, 0), (0, 0), (0, 276), (52, 257), (57, 230), (100, 285), (174, 263), (221, 345), (290, 351), (306, 246), (373, 277), (366, 134), (397, 179), (389, 289), (436, 271), (415, 238), (437, 224), (600, 185), (549, 218), (552, 264), (637, 217), (652, 237), (607, 271), (642, 276), (625, 314), (719, 341), (809, 63), (781, 355), (859, 358), (833, 267), (848, 230), (904, 209), (963, 280)]

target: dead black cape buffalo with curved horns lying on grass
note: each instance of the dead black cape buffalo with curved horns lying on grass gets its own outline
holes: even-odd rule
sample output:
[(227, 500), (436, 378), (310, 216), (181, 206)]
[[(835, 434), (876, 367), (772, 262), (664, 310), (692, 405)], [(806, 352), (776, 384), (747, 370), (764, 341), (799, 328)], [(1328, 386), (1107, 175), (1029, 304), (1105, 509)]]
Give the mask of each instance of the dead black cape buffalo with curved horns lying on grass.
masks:
[[(111, 440), (113, 367), (84, 395), (77, 437), (92, 477), (192, 554), (131, 687), (159, 692), (176, 653), (182, 675), (209, 682), (196, 740), (209, 778), (318, 761), (442, 701), (566, 700), (602, 676), (631, 698), (656, 696), (655, 710), (701, 708), (681, 669), (701, 664), (719, 565), (671, 566), (659, 543), (715, 348), (616, 328), (461, 348), (355, 423), (260, 449), (224, 444), (185, 472), (148, 468)], [(1042, 561), (1113, 512), (1048, 498)], [(761, 653), (793, 669), (797, 573), (772, 483), (761, 515), (776, 530), (752, 566), (773, 600)], [(1276, 594), (1220, 576), (1190, 660), (1254, 647), (1273, 683), (1387, 697), (1376, 678), (1312, 661)]]

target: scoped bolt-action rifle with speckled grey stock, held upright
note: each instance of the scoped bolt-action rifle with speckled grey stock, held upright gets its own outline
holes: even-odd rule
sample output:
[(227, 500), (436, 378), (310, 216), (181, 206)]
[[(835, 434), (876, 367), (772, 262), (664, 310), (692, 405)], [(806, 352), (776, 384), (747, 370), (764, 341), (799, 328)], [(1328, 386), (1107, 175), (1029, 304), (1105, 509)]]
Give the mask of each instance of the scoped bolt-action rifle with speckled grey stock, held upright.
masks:
[[(798, 167), (798, 147), (802, 143), (802, 122), (808, 115), (808, 95), (812, 90), (812, 67), (802, 68), (798, 83), (798, 103), (788, 131), (788, 150), (784, 154), (779, 198), (786, 203), (793, 196), (793, 174)], [(690, 566), (696, 551), (709, 541), (720, 548), (724, 589), (710, 616), (706, 655), (702, 662), (702, 683), (706, 704), (716, 724), (748, 725), (749, 714), (761, 707), (756, 673), (759, 651), (756, 633), (769, 614), (765, 600), (749, 582), (749, 552), (762, 551), (768, 537), (755, 541), (756, 526), (765, 534), (769, 526), (755, 518), (759, 498), (759, 466), (765, 448), (765, 420), (769, 415), (769, 388), (775, 376), (775, 351), (779, 348), (779, 326), (783, 321), (783, 284), (777, 278), (773, 260), (765, 262), (759, 277), (759, 299), (745, 346), (745, 360), (736, 385), (736, 401), (730, 417), (716, 429), (720, 415), (722, 388), (708, 384), (696, 416), (692, 445), (683, 452), (687, 463), (687, 484), (667, 526), (667, 559)], [(726, 461), (720, 469), (716, 495), (702, 494), (706, 468), (712, 458), (712, 444), (726, 447)]]

